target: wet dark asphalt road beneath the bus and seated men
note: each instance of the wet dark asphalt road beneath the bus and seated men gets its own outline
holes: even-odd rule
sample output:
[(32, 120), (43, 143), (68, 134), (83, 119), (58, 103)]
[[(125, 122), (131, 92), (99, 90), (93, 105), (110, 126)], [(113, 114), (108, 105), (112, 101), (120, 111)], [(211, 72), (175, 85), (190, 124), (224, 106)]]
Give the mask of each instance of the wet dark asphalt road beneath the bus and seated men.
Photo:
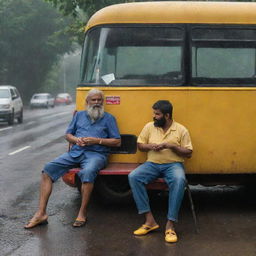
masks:
[(254, 256), (256, 190), (237, 186), (192, 189), (199, 221), (194, 232), (185, 197), (176, 226), (177, 244), (164, 242), (167, 196), (152, 195), (160, 230), (146, 237), (132, 231), (142, 224), (133, 202), (108, 205), (93, 195), (88, 223), (72, 228), (80, 205), (76, 189), (59, 180), (48, 206), (49, 224), (33, 230), (23, 225), (37, 208), (40, 171), (66, 149), (63, 134), (74, 106), (24, 113), (24, 123), (0, 124), (0, 255), (86, 256)]

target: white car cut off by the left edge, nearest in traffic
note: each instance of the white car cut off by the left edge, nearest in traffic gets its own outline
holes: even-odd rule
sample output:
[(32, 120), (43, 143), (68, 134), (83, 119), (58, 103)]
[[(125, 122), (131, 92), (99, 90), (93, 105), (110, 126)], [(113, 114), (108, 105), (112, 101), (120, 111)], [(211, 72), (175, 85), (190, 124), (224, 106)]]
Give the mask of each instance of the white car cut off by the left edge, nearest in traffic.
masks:
[(0, 85), (0, 120), (7, 121), (9, 125), (17, 118), (23, 122), (23, 102), (16, 87)]

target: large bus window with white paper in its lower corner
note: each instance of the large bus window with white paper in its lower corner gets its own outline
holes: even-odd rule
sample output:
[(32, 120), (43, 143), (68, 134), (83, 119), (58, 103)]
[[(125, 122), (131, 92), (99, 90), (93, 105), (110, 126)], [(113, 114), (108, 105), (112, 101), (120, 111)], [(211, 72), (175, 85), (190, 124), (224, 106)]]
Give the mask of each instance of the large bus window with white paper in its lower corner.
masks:
[(81, 83), (181, 85), (184, 36), (182, 26), (96, 27), (85, 38)]

